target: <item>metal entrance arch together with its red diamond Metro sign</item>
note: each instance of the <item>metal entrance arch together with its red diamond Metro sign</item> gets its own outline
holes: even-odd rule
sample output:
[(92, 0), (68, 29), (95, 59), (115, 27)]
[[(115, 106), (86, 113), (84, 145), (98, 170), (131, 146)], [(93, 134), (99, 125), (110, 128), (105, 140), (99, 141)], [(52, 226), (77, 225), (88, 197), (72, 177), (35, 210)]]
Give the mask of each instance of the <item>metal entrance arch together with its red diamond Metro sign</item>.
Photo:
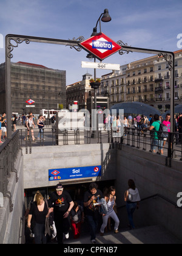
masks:
[[(93, 40), (94, 38), (94, 40)], [(99, 33), (95, 35), (95, 37), (89, 38), (90, 46), (86, 48), (84, 44), (84, 37), (78, 37), (77, 39), (73, 38), (73, 40), (61, 40), (61, 39), (53, 39), (53, 38), (42, 38), (42, 37), (31, 37), (26, 35), (12, 35), (9, 34), (5, 37), (5, 94), (6, 94), (6, 112), (7, 112), (7, 138), (12, 138), (12, 104), (11, 104), (11, 65), (10, 60), (13, 58), (13, 49), (17, 48), (19, 44), (25, 42), (29, 44), (30, 41), (36, 43), (50, 43), (50, 44), (61, 44), (70, 46), (70, 48), (76, 49), (76, 51), (81, 51), (83, 48), (87, 52), (92, 53), (96, 56), (97, 59), (103, 60), (106, 57), (109, 57), (115, 52), (119, 52), (120, 55), (129, 52), (142, 52), (147, 54), (157, 54), (158, 57), (163, 57), (166, 62), (169, 64), (170, 71), (170, 114), (174, 116), (174, 108), (175, 108), (175, 55), (174, 52), (168, 52), (163, 50), (154, 50), (154, 49), (144, 49), (144, 48), (135, 48), (131, 46), (127, 46), (123, 41), (118, 41), (115, 43), (110, 40), (106, 35)], [(87, 41), (87, 40), (86, 40)], [(93, 41), (93, 42), (92, 42)], [(98, 41), (98, 42), (96, 42)], [(107, 43), (106, 43), (107, 42)], [(82, 44), (83, 43), (83, 44)], [(88, 41), (87, 41), (88, 43)], [(92, 49), (93, 44), (93, 49)], [(112, 45), (112, 49), (111, 49)], [(99, 46), (100, 49), (96, 47)], [(114, 46), (114, 47), (113, 47)], [(94, 48), (95, 47), (95, 48)], [(89, 48), (89, 49), (88, 49)], [(106, 49), (104, 49), (106, 48)], [(174, 118), (170, 119), (170, 131), (175, 131), (175, 123)]]

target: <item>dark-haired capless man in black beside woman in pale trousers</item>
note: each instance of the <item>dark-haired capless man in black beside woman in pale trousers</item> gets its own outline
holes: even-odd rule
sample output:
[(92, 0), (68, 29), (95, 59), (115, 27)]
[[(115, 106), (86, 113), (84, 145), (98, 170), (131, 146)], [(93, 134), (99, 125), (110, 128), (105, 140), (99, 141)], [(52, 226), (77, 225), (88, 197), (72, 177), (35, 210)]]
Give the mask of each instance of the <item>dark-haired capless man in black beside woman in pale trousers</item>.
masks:
[(96, 231), (98, 227), (99, 211), (98, 205), (95, 205), (101, 198), (103, 193), (98, 190), (98, 185), (92, 182), (89, 186), (89, 191), (84, 194), (84, 207), (86, 207), (86, 215), (90, 224), (91, 242), (96, 243)]

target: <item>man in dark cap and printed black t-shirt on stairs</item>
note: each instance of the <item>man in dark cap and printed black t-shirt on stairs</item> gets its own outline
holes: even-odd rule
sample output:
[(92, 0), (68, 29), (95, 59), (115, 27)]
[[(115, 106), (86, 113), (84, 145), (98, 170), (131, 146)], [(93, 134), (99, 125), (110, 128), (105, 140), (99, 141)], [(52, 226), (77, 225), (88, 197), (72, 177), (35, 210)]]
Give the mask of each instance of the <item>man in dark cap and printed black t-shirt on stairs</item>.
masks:
[(68, 217), (73, 205), (70, 194), (64, 191), (60, 183), (56, 185), (56, 191), (51, 194), (49, 199), (49, 213), (54, 212), (58, 244), (63, 243), (63, 233), (66, 238), (69, 238), (70, 221)]

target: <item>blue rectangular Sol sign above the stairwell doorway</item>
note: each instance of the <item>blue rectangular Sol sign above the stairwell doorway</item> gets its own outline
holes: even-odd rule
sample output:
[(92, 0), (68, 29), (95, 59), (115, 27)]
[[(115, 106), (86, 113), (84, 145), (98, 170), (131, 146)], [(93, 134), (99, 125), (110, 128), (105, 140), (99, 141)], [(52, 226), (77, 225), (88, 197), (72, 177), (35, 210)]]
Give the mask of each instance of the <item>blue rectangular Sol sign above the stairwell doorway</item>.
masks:
[(102, 175), (101, 165), (76, 168), (49, 169), (49, 181), (82, 179)]

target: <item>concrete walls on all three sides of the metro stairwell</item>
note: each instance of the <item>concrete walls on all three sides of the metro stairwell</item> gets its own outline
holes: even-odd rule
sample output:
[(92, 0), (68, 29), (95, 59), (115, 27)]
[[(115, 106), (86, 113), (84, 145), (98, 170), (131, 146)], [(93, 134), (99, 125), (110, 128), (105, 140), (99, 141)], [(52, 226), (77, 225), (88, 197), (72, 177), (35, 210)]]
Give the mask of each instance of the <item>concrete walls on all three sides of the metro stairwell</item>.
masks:
[[(109, 144), (90, 144), (75, 146), (34, 147), (32, 154), (21, 152), (16, 160), (19, 180), (16, 183), (15, 172), (12, 172), (8, 190), (12, 193), (13, 212), (9, 212), (8, 199), (0, 208), (0, 244), (19, 243), (21, 218), (24, 210), (24, 188), (54, 186), (58, 181), (49, 182), (48, 170), (53, 168), (103, 166), (103, 176), (75, 180), (63, 180), (62, 183), (92, 182), (92, 180), (113, 180), (116, 185), (116, 202), (121, 227), (127, 227), (124, 191), (127, 181), (135, 180), (141, 198), (161, 194), (177, 202), (177, 193), (182, 191), (181, 162), (172, 161), (172, 168), (166, 167), (166, 159), (160, 155), (122, 146), (121, 150), (109, 149)], [(141, 202), (140, 210), (135, 212), (135, 224), (146, 226), (162, 224), (178, 238), (182, 239), (181, 210), (156, 197)]]

